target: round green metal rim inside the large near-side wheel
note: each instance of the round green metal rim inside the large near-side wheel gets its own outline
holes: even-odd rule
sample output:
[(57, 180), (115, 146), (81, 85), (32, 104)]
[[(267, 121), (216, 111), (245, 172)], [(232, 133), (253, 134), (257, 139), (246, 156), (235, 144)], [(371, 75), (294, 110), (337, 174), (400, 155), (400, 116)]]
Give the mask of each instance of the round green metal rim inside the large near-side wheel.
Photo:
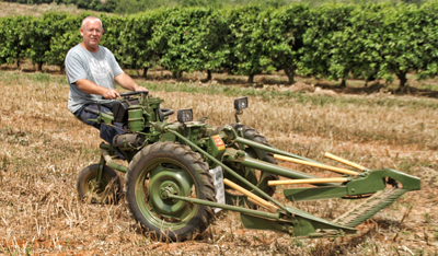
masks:
[[(162, 230), (178, 230), (194, 218), (198, 206), (163, 196), (166, 188), (178, 196), (198, 198), (199, 191), (186, 166), (172, 159), (157, 158), (143, 166), (136, 179), (136, 201), (142, 216)], [(195, 189), (194, 189), (195, 187)]]

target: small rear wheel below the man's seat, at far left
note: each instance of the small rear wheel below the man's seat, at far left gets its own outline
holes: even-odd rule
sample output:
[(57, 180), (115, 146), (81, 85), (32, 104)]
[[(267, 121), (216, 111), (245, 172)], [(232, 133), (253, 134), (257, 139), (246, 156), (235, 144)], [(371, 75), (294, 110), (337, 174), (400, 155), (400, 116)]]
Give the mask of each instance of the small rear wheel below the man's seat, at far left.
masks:
[[(101, 187), (103, 189), (99, 189), (96, 193), (92, 193), (91, 197), (90, 196), (90, 182), (96, 179), (97, 177), (97, 172), (99, 172), (99, 164), (92, 164), (83, 168), (78, 176), (78, 183), (77, 183), (77, 189), (79, 197), (88, 202), (91, 203), (112, 203), (112, 202), (117, 202), (119, 198), (119, 194), (122, 191), (122, 185), (120, 185), (120, 178), (118, 177), (116, 171), (114, 171), (112, 167), (104, 165), (103, 166), (103, 172), (102, 172), (102, 178), (101, 178)], [(111, 181), (114, 178), (113, 187), (108, 188), (110, 194), (107, 196), (103, 195), (105, 191), (106, 186), (111, 183)], [(113, 194), (113, 196), (110, 196)], [(106, 198), (105, 198), (106, 197)]]

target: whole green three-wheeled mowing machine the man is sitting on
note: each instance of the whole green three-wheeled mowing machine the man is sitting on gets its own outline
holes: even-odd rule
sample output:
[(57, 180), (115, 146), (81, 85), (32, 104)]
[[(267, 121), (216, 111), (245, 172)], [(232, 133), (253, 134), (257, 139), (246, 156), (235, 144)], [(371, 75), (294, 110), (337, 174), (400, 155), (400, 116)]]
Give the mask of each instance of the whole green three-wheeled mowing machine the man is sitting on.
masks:
[[(219, 210), (240, 212), (246, 229), (306, 237), (354, 234), (355, 226), (404, 193), (420, 189), (419, 178), (392, 168), (368, 170), (327, 153), (325, 156), (349, 165), (339, 168), (272, 147), (258, 131), (240, 124), (239, 115), (249, 105), (246, 97), (234, 100), (237, 124), (217, 129), (205, 123), (206, 117), (193, 120), (192, 109), (180, 109), (177, 121), (168, 121), (174, 112), (161, 108), (162, 102), (147, 91), (132, 92), (122, 94), (113, 114), (94, 110), (96, 121), (122, 124), (126, 133), (116, 136), (113, 146), (100, 146), (100, 163), (82, 170), (77, 186), (79, 196), (89, 202), (111, 202), (120, 195), (116, 171), (126, 173), (126, 205), (158, 240), (193, 238)], [(118, 158), (115, 150), (123, 152), (128, 167), (114, 162)], [(279, 166), (277, 160), (341, 175), (321, 178)], [(339, 218), (325, 220), (273, 198), (276, 186), (287, 184), (307, 184), (283, 189), (291, 201), (362, 201)]]

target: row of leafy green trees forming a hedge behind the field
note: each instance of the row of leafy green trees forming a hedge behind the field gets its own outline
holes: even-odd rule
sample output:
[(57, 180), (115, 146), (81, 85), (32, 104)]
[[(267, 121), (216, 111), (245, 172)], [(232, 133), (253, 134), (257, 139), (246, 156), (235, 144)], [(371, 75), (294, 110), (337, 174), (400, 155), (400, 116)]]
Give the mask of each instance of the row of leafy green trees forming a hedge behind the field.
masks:
[[(79, 26), (89, 14), (48, 13), (43, 18), (0, 19), (0, 63), (30, 58), (64, 69), (69, 48), (81, 42)], [(101, 14), (104, 36), (123, 68), (160, 65), (183, 71), (249, 75), (284, 70), (330, 80), (366, 81), (438, 73), (438, 3), (343, 4), (318, 8), (171, 8), (131, 15)], [(210, 75), (209, 75), (210, 78)], [(344, 83), (345, 85), (345, 83)]]

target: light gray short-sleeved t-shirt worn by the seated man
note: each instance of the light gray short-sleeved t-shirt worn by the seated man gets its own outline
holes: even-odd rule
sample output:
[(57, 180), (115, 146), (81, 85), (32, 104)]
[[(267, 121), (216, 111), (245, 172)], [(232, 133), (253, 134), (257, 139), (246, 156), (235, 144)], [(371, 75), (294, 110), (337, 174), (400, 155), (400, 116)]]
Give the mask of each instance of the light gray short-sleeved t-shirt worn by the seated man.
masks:
[(84, 104), (100, 103), (112, 105), (113, 101), (102, 98), (101, 95), (89, 94), (80, 90), (76, 82), (88, 79), (93, 83), (114, 89), (114, 78), (124, 71), (118, 66), (114, 55), (105, 47), (99, 46), (97, 53), (91, 53), (77, 45), (66, 56), (66, 73), (70, 84), (68, 108), (74, 113)]

